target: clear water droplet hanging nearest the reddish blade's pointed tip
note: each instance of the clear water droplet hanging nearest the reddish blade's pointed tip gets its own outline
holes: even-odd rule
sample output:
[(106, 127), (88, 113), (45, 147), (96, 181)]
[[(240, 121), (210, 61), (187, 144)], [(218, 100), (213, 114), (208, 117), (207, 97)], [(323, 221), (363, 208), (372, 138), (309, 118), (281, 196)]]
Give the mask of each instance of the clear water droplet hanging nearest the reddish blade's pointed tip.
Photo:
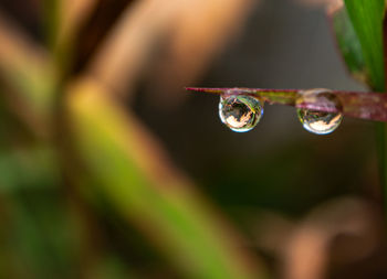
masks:
[(262, 103), (251, 96), (226, 95), (220, 97), (219, 117), (231, 130), (252, 130), (263, 115)]

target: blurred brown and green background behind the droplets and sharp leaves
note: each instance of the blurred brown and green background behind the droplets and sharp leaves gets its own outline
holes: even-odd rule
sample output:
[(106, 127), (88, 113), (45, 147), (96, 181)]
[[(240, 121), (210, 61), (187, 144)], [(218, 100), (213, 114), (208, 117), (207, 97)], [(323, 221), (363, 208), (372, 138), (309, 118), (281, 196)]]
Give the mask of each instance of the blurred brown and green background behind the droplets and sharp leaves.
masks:
[(2, 0), (1, 278), (386, 278), (374, 124), (185, 86), (366, 90), (312, 0)]

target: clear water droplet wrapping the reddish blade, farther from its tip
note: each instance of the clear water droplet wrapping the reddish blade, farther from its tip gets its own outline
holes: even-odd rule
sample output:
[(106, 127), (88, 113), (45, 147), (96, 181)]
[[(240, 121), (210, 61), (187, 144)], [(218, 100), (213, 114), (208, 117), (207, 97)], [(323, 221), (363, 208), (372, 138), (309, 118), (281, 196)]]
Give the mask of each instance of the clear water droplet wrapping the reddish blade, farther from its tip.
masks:
[[(324, 107), (342, 110), (342, 104), (337, 96), (328, 89), (311, 89), (301, 94), (297, 104), (315, 103), (324, 104)], [(297, 109), (297, 116), (303, 127), (316, 135), (327, 135), (337, 129), (343, 120), (341, 112), (323, 112), (311, 109)]]

